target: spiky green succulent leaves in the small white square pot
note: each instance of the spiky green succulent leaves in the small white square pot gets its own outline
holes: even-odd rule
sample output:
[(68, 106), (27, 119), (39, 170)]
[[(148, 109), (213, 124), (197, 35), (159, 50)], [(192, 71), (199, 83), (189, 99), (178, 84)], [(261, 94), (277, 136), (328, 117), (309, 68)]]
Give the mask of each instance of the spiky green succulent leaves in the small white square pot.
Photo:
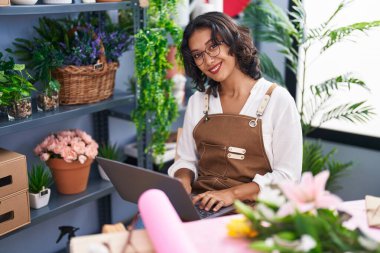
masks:
[(33, 165), (32, 169), (28, 172), (28, 178), (29, 191), (31, 193), (39, 193), (53, 183), (49, 170), (45, 169), (43, 164)]

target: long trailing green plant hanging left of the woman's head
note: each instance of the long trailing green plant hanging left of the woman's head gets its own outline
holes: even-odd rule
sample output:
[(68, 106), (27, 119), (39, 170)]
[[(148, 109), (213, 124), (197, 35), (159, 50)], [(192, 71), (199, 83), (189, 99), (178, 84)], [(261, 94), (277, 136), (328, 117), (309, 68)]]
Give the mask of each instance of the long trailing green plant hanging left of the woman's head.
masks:
[(139, 138), (146, 130), (147, 121), (154, 129), (146, 152), (158, 156), (165, 152), (165, 141), (170, 126), (177, 117), (177, 104), (172, 94), (173, 83), (166, 79), (171, 67), (167, 61), (169, 37), (180, 44), (182, 30), (173, 21), (176, 0), (149, 1), (149, 21), (135, 36), (135, 66), (138, 106), (132, 117)]

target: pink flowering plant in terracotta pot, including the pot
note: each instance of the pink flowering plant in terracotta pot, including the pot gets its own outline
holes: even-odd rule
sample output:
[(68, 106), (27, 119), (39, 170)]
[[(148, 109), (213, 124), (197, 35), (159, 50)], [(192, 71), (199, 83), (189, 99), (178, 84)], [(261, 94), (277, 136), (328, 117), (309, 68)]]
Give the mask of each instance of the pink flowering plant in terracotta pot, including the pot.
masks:
[(34, 153), (52, 171), (58, 192), (77, 194), (87, 188), (98, 144), (86, 132), (73, 129), (49, 135), (35, 147)]

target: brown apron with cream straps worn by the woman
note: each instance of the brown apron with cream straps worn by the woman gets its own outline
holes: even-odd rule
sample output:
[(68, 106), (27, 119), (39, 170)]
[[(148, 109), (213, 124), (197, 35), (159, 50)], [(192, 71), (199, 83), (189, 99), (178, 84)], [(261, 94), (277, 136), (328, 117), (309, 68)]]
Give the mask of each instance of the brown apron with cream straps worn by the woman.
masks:
[(227, 189), (272, 171), (264, 150), (261, 117), (274, 88), (276, 84), (267, 90), (256, 117), (208, 115), (210, 94), (206, 92), (205, 116), (193, 130), (199, 156), (194, 192)]

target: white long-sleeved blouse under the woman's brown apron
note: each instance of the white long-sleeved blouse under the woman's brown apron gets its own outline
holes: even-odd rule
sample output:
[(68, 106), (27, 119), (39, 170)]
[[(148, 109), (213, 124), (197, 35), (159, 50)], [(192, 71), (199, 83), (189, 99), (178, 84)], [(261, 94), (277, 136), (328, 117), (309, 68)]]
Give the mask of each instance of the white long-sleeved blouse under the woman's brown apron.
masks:
[[(259, 79), (251, 90), (251, 94), (240, 114), (256, 117), (256, 111), (271, 82)], [(209, 114), (223, 113), (220, 97), (210, 95)], [(193, 129), (204, 116), (204, 92), (194, 93), (189, 100), (181, 138), (178, 140), (177, 153), (179, 159), (169, 168), (169, 176), (187, 168), (192, 170), (197, 179), (198, 156), (193, 138)], [(302, 130), (300, 116), (293, 97), (278, 86), (274, 89), (267, 108), (262, 116), (263, 141), (265, 152), (272, 167), (272, 172), (257, 174), (253, 179), (260, 188), (268, 183), (282, 180), (298, 182), (302, 171)]]

